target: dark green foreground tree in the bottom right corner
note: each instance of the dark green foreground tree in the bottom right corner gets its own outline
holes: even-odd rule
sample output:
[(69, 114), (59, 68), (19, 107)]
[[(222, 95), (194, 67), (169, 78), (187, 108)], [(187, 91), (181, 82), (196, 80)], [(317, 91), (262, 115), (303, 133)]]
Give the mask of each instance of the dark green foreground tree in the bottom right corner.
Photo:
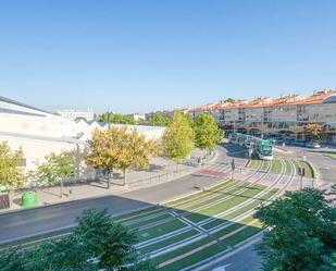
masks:
[(287, 193), (285, 198), (261, 207), (256, 218), (269, 229), (258, 246), (263, 270), (332, 270), (336, 209), (323, 192), (306, 188)]

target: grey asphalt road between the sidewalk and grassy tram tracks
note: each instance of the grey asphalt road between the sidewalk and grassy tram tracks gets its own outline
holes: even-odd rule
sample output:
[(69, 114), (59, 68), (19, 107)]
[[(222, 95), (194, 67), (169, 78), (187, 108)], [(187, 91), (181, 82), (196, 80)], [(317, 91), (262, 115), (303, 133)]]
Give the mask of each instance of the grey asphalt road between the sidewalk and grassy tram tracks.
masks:
[[(215, 163), (227, 163), (235, 159), (236, 164), (244, 164), (244, 153), (231, 145), (217, 148), (219, 157)], [(73, 226), (75, 219), (84, 209), (107, 208), (112, 215), (130, 212), (150, 207), (158, 202), (197, 192), (221, 182), (204, 175), (191, 174), (165, 184), (125, 193), (119, 196), (105, 196), (85, 200), (69, 201), (42, 208), (21, 210), (0, 214), (0, 245), (13, 239), (34, 236)]]

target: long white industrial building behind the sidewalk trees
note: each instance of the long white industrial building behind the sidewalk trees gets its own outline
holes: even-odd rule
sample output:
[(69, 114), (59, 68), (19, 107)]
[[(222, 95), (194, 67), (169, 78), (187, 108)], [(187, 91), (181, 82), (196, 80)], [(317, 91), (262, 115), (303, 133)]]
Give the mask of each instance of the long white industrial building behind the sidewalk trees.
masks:
[[(124, 125), (111, 124), (111, 127)], [(15, 150), (24, 151), (26, 170), (34, 170), (51, 152), (62, 150), (74, 151), (84, 149), (92, 132), (105, 130), (107, 123), (96, 121), (78, 122), (62, 118), (8, 98), (0, 97), (0, 141), (8, 141)], [(164, 128), (152, 126), (128, 125), (129, 131), (137, 128), (150, 139), (160, 139)]]

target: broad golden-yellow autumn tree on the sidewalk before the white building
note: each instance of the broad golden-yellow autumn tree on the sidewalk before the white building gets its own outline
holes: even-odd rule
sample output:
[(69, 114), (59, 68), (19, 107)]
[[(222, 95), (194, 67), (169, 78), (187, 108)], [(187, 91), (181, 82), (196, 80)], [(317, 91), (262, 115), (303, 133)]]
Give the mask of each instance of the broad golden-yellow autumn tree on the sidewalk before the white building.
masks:
[(153, 140), (147, 140), (136, 130), (127, 132), (126, 127), (95, 131), (90, 141), (90, 152), (87, 163), (95, 169), (112, 171), (123, 170), (124, 185), (126, 171), (132, 167), (146, 169), (149, 157), (158, 155), (158, 146)]

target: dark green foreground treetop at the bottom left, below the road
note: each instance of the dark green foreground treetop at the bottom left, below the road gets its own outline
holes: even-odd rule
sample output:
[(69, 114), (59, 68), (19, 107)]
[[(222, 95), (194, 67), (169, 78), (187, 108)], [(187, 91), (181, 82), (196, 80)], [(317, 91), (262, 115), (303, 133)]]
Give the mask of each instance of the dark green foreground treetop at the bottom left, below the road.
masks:
[(45, 242), (28, 250), (2, 250), (0, 270), (153, 270), (135, 249), (136, 232), (113, 222), (107, 210), (85, 210), (76, 222), (74, 231), (59, 241)]

